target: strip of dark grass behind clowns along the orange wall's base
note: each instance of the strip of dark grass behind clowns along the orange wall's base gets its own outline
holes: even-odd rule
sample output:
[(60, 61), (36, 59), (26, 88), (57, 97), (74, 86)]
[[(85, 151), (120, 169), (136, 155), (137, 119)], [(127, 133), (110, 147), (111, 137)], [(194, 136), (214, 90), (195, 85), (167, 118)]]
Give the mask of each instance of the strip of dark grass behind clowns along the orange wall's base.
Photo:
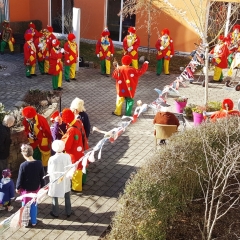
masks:
[[(141, 56), (147, 57), (146, 52), (139, 52), (139, 57)], [(95, 44), (89, 44), (86, 42), (81, 42), (80, 44), (80, 56), (83, 57), (84, 61), (93, 62), (95, 68), (100, 68), (100, 61), (95, 54)], [(121, 48), (115, 48), (114, 58), (121, 63), (121, 57), (123, 56), (123, 51)], [(173, 56), (170, 61), (170, 73), (180, 74), (180, 67), (185, 67), (190, 62), (190, 57), (184, 56)], [(156, 71), (156, 54), (150, 54), (149, 60), (149, 70)]]

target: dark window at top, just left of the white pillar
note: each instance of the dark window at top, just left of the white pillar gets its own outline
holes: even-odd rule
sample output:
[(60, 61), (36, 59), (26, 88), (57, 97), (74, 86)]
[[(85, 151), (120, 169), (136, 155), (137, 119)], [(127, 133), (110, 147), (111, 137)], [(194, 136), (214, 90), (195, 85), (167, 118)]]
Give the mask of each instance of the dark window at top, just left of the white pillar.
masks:
[(54, 32), (72, 32), (72, 9), (73, 0), (51, 0), (51, 24)]

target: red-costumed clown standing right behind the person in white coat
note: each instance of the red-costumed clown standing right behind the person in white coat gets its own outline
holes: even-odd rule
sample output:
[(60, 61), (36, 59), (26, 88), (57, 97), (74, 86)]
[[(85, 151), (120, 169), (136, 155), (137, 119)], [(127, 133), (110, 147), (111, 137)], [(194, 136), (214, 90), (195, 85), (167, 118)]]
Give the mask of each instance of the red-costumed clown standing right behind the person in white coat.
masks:
[[(71, 156), (72, 163), (75, 163), (89, 148), (84, 127), (81, 120), (75, 119), (74, 113), (69, 108), (63, 109), (62, 120), (67, 124), (67, 132), (61, 140), (65, 142), (65, 152)], [(82, 162), (80, 162), (72, 178), (74, 191), (82, 191), (82, 168)]]

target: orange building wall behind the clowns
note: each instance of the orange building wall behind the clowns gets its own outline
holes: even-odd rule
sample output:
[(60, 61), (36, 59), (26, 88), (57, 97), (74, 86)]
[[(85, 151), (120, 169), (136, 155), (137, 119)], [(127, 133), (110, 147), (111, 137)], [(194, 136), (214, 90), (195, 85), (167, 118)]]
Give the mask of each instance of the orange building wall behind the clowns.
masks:
[[(61, 1), (61, 0), (59, 0)], [(120, 0), (119, 0), (120, 1)], [(41, 20), (45, 28), (49, 24), (48, 0), (10, 0), (10, 20), (28, 21)], [(106, 0), (74, 0), (74, 7), (81, 9), (81, 38), (97, 40), (105, 27)], [(145, 14), (146, 16), (146, 14)], [(141, 46), (147, 46), (146, 28), (140, 28), (146, 19), (136, 16), (137, 34), (141, 39)], [(187, 25), (182, 24), (168, 14), (161, 13), (155, 19), (152, 28), (150, 47), (154, 47), (158, 39), (158, 33), (163, 28), (170, 30), (174, 41), (175, 51), (190, 52), (194, 48), (193, 43), (198, 42), (199, 37)]]

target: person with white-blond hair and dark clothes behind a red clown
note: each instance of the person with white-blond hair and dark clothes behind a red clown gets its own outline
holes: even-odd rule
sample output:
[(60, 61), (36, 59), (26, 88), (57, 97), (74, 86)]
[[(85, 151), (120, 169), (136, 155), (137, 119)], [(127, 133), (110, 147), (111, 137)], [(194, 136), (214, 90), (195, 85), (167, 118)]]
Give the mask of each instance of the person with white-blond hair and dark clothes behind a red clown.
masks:
[(74, 113), (75, 118), (82, 121), (86, 136), (88, 138), (90, 134), (91, 125), (88, 114), (86, 113), (86, 109), (84, 107), (84, 101), (76, 97), (72, 101), (70, 109)]

